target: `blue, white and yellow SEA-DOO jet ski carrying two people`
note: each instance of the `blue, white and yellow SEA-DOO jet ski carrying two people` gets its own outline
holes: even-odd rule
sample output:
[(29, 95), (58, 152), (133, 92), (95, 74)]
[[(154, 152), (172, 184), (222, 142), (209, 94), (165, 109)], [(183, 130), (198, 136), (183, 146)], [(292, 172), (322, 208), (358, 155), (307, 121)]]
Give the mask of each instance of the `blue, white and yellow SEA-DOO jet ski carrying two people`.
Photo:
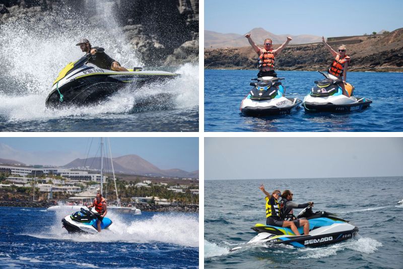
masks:
[[(289, 244), (295, 247), (313, 247), (331, 244), (353, 238), (358, 233), (358, 227), (339, 216), (325, 211), (312, 212), (311, 207), (305, 208), (298, 219), (309, 221), (309, 235), (295, 235), (290, 228), (256, 224), (251, 229), (258, 234), (246, 245), (258, 243)], [(303, 227), (298, 231), (302, 234)], [(234, 247), (230, 251), (241, 249)]]

